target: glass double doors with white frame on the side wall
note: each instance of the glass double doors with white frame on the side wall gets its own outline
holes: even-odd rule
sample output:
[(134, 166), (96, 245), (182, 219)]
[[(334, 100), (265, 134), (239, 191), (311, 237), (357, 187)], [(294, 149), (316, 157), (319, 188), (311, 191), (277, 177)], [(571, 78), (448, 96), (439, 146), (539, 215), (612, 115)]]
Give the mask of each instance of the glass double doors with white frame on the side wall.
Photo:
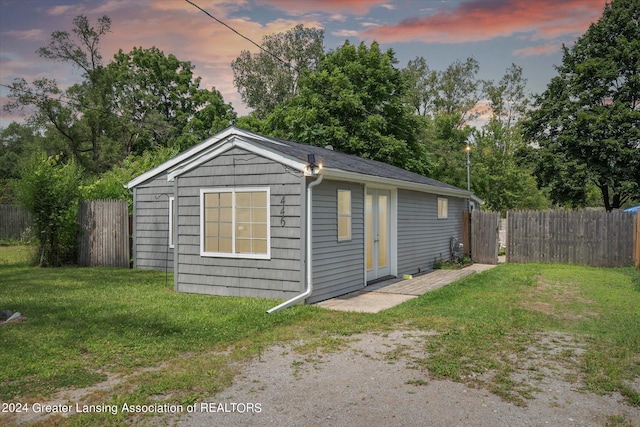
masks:
[(390, 199), (388, 190), (367, 189), (365, 200), (365, 264), (367, 282), (391, 274)]

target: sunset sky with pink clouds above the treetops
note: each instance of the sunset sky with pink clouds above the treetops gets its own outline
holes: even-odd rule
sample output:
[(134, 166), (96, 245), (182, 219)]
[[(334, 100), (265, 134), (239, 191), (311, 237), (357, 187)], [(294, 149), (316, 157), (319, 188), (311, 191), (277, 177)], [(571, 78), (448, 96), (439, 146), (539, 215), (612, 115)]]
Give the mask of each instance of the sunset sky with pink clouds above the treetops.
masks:
[[(297, 24), (322, 28), (325, 48), (345, 40), (376, 40), (392, 48), (399, 67), (417, 56), (443, 70), (474, 57), (482, 79), (499, 80), (515, 63), (524, 69), (531, 93), (542, 92), (570, 45), (601, 16), (605, 0), (192, 0), (239, 33), (260, 43), (264, 35)], [(22, 77), (55, 78), (67, 87), (80, 81), (69, 65), (35, 53), (56, 30), (70, 31), (73, 18), (92, 24), (107, 15), (111, 33), (101, 43), (104, 63), (122, 49), (156, 46), (195, 65), (202, 86), (219, 90), (239, 115), (247, 114), (230, 63), (242, 50), (256, 52), (245, 39), (184, 0), (0, 0), (0, 104), (5, 85)], [(20, 120), (0, 111), (0, 126)]]

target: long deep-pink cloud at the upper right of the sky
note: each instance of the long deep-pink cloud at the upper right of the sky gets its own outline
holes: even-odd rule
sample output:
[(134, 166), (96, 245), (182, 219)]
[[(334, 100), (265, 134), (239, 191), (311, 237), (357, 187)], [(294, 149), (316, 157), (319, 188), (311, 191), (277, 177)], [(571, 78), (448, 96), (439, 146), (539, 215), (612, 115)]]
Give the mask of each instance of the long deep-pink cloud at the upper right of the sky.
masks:
[(464, 43), (518, 33), (535, 39), (576, 35), (602, 14), (606, 0), (473, 0), (430, 16), (381, 25), (362, 33), (379, 42)]

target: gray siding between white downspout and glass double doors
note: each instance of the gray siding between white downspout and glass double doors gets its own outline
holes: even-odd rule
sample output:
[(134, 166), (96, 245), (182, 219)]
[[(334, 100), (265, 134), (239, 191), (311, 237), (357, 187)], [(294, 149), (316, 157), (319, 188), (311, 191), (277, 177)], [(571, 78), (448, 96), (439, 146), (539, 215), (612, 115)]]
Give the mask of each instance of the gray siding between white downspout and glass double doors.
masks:
[[(338, 241), (338, 189), (351, 190), (351, 240)], [(324, 181), (313, 189), (313, 303), (364, 287), (364, 186)]]

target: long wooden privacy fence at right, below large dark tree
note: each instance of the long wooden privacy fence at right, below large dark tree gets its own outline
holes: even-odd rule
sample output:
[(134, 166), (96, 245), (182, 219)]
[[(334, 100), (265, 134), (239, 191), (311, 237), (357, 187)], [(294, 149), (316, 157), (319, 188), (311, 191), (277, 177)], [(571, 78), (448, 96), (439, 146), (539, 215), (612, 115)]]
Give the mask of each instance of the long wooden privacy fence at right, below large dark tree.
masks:
[(636, 218), (625, 212), (508, 212), (507, 262), (634, 265)]

